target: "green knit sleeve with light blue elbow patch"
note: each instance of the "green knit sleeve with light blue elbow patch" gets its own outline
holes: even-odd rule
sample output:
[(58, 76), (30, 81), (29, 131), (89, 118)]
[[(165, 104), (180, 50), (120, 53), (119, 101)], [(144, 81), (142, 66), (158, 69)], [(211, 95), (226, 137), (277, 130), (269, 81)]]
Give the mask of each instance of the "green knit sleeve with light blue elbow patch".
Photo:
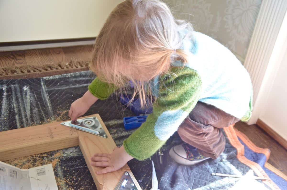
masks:
[(153, 113), (124, 141), (128, 154), (138, 160), (152, 156), (177, 131), (199, 100), (201, 79), (190, 68), (173, 67), (175, 75), (161, 77)]

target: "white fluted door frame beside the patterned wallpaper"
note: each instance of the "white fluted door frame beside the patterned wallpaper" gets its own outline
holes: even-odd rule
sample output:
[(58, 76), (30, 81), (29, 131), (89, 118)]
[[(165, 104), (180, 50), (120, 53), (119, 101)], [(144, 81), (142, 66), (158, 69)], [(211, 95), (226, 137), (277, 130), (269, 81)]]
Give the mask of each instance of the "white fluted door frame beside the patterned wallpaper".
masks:
[(253, 112), (248, 124), (256, 123), (269, 87), (273, 84), (283, 55), (287, 49), (287, 1), (263, 0), (253, 35), (245, 58), (244, 66), (253, 84)]

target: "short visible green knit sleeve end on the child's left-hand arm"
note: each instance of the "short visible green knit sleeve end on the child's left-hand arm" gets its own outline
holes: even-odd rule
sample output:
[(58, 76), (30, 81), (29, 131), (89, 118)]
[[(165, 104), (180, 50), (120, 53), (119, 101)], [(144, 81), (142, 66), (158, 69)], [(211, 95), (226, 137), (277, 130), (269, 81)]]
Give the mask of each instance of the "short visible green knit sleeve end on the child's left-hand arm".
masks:
[(117, 88), (113, 84), (102, 82), (95, 78), (88, 87), (89, 91), (100, 100), (107, 99)]

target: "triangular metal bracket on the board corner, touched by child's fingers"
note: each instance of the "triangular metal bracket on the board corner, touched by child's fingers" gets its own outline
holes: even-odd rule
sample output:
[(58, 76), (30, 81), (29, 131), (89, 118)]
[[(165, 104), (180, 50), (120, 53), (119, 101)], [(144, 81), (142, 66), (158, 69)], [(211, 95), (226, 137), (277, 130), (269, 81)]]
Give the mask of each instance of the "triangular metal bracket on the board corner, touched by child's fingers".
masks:
[(87, 117), (83, 119), (78, 119), (77, 121), (66, 121), (62, 122), (61, 125), (68, 127), (73, 127), (81, 131), (92, 133), (100, 137), (107, 138), (106, 132), (104, 131), (102, 125), (96, 117)]

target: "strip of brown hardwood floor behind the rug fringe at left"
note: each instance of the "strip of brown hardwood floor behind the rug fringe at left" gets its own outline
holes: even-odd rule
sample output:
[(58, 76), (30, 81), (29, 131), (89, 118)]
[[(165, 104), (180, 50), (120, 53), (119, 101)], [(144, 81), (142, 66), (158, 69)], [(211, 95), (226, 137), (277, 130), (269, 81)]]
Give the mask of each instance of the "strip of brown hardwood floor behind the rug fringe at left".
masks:
[(92, 45), (0, 52), (0, 67), (89, 61)]

